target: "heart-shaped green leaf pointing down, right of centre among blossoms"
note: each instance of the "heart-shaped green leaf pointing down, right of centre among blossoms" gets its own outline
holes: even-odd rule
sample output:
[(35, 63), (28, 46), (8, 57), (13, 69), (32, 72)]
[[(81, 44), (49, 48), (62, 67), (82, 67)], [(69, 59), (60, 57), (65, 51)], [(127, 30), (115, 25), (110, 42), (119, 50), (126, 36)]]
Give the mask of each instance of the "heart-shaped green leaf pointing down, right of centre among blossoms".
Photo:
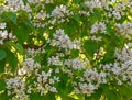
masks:
[(94, 54), (98, 51), (99, 48), (99, 45), (97, 42), (94, 42), (94, 41), (89, 41), (87, 40), (84, 44), (84, 48), (85, 51), (87, 52), (87, 54), (92, 57)]

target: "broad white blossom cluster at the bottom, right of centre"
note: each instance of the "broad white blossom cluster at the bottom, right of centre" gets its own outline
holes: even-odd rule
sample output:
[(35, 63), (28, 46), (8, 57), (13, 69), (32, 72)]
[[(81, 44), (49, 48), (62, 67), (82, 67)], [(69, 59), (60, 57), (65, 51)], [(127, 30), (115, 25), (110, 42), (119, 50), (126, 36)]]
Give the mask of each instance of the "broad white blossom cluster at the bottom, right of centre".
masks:
[(98, 73), (96, 68), (87, 68), (79, 81), (73, 84), (75, 92), (91, 96), (99, 88), (100, 84), (107, 84), (106, 76), (107, 73)]

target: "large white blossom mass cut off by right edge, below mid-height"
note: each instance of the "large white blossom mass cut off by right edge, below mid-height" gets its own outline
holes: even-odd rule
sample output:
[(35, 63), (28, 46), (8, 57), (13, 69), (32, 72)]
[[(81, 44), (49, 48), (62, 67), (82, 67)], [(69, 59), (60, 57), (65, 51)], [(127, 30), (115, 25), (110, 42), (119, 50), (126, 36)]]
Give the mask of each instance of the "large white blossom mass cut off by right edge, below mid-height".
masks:
[[(109, 75), (109, 81), (117, 80), (118, 85), (123, 82), (132, 84), (132, 48), (123, 47), (116, 51), (117, 60), (113, 64), (103, 65), (105, 71)], [(114, 75), (114, 76), (111, 76)]]

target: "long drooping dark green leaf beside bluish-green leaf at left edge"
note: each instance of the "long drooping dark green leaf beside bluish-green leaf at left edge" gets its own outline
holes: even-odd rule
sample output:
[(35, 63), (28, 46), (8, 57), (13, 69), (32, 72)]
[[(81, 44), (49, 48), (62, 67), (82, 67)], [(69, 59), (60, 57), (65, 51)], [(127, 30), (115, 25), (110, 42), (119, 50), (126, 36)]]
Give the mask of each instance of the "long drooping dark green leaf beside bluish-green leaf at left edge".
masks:
[(15, 57), (15, 54), (11, 51), (7, 49), (7, 63), (11, 66), (11, 71), (14, 73), (18, 67), (18, 58)]

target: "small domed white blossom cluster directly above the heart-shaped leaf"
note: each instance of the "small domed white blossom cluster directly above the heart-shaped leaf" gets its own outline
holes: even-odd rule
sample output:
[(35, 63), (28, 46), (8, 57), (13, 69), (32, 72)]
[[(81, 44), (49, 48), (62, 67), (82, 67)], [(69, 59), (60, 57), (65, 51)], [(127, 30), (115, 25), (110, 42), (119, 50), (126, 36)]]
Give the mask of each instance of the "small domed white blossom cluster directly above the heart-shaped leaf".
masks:
[(90, 33), (94, 34), (94, 33), (106, 33), (106, 24), (103, 22), (99, 22), (99, 23), (95, 23), (92, 26), (91, 26), (91, 30), (90, 30)]

